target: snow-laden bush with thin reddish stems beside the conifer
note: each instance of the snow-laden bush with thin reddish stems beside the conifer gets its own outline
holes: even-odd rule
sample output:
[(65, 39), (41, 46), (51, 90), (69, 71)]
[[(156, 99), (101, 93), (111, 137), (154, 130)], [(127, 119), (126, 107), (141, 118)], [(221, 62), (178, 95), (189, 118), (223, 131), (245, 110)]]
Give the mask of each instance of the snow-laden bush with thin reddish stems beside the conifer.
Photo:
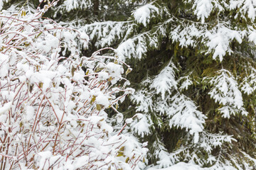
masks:
[(0, 14), (0, 169), (142, 169), (146, 149), (105, 112), (133, 93), (131, 69), (80, 57), (88, 36), (43, 18), (53, 5)]

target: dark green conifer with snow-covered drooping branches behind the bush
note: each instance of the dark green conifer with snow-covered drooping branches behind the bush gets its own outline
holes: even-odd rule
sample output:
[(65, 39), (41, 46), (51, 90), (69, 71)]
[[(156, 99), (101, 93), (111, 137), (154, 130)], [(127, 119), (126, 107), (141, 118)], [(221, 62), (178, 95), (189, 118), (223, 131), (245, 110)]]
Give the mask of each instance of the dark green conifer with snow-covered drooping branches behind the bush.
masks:
[(93, 43), (82, 52), (115, 47), (132, 66), (127, 79), (136, 93), (122, 113), (141, 113), (137, 123), (127, 122), (127, 132), (149, 142), (151, 169), (253, 169), (255, 6), (253, 0), (63, 0), (46, 15), (90, 35)]

